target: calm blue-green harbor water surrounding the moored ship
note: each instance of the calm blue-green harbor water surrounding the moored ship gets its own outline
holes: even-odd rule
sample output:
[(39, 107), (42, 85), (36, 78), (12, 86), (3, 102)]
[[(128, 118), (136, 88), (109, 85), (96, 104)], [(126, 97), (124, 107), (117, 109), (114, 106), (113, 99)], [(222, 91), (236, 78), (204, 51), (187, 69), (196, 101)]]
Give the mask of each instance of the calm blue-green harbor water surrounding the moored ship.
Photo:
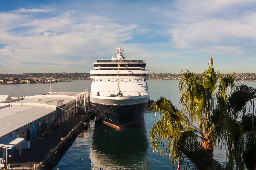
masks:
[[(151, 100), (162, 95), (169, 98), (177, 108), (179, 103), (179, 80), (148, 80)], [(256, 88), (256, 82), (240, 82)], [(64, 83), (18, 84), (26, 95), (46, 94), (48, 91), (84, 91), (91, 86), (90, 80)], [(16, 85), (0, 85), (1, 95), (24, 96)], [(54, 168), (66, 169), (173, 169), (167, 156), (160, 156), (150, 147), (149, 134), (155, 123), (150, 113), (129, 127), (116, 130), (105, 124), (91, 121)], [(214, 152), (214, 159), (226, 162), (226, 150)]]

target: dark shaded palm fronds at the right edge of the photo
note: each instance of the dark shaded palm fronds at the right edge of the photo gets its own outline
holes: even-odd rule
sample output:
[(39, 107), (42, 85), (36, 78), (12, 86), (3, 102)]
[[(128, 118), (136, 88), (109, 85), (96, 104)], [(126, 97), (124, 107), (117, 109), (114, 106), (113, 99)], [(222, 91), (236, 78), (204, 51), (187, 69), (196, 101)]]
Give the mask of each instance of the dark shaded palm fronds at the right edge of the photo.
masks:
[[(256, 116), (254, 115), (256, 89), (237, 86), (227, 100), (228, 158), (237, 163), (238, 169), (256, 169)], [(251, 101), (247, 103), (246, 101)], [(252, 113), (251, 113), (252, 112)]]

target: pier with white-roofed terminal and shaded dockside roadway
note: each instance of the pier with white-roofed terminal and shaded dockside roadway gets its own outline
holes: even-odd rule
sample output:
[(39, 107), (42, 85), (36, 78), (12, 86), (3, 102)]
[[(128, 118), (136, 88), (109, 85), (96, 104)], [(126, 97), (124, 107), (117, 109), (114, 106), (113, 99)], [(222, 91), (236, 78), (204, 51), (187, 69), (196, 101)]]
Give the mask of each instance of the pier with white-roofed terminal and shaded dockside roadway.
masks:
[(53, 168), (87, 127), (88, 109), (88, 91), (52, 92), (0, 103), (0, 169)]

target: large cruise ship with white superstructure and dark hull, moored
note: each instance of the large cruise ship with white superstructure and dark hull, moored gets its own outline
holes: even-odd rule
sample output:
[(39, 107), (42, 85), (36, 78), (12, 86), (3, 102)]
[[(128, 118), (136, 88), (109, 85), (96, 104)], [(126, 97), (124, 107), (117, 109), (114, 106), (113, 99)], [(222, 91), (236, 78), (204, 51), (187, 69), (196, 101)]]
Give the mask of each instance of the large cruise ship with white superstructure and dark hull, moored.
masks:
[(121, 45), (116, 49), (115, 58), (93, 63), (90, 101), (97, 119), (121, 129), (144, 117), (149, 71), (145, 61), (125, 59)]

